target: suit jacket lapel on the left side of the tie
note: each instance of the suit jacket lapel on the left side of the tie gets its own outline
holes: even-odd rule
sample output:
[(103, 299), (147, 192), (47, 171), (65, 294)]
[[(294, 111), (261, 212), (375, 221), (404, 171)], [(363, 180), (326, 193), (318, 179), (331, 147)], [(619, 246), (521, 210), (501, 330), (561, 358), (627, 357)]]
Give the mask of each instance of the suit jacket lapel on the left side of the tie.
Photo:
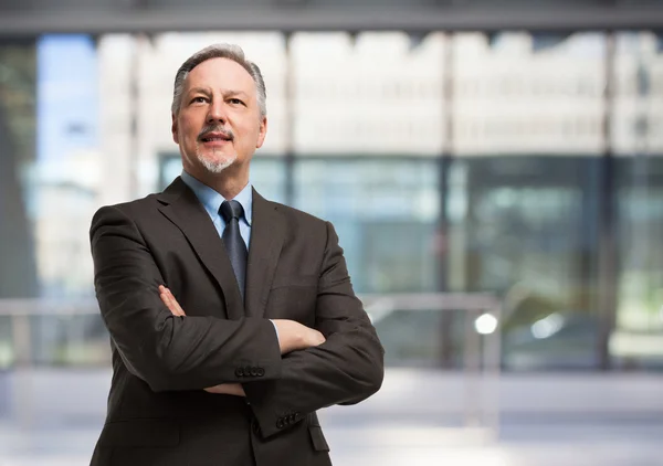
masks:
[(159, 210), (185, 234), (198, 258), (212, 274), (225, 299), (228, 318), (244, 315), (242, 296), (232, 272), (223, 241), (193, 191), (178, 177), (162, 193), (157, 194)]

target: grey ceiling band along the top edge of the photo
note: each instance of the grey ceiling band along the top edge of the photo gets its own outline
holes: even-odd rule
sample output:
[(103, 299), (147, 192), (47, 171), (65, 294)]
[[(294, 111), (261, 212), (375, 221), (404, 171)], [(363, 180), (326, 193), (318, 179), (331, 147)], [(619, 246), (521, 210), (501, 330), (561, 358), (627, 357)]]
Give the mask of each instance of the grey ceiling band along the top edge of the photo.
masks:
[(0, 36), (204, 30), (663, 30), (663, 0), (1, 0)]

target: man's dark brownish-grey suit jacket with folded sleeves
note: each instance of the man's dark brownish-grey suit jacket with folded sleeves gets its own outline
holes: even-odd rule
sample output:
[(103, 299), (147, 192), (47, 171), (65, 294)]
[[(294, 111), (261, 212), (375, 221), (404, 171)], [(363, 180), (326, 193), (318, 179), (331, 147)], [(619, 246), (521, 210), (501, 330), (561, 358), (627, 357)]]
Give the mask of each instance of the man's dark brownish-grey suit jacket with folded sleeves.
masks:
[[(316, 410), (358, 403), (382, 382), (383, 350), (330, 223), (253, 191), (245, 304), (212, 221), (178, 178), (92, 221), (95, 289), (113, 380), (95, 466), (317, 466)], [(187, 317), (175, 317), (158, 286)], [(269, 319), (318, 329), (281, 356)], [(202, 389), (242, 383), (246, 399)]]

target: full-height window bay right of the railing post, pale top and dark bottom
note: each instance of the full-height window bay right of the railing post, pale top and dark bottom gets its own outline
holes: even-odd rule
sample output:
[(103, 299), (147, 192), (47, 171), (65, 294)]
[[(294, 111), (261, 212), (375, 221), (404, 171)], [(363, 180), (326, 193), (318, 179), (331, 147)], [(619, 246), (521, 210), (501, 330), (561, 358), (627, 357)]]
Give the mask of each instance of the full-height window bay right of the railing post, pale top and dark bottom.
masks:
[(599, 33), (454, 35), (448, 285), (505, 297), (511, 369), (599, 360), (604, 54)]

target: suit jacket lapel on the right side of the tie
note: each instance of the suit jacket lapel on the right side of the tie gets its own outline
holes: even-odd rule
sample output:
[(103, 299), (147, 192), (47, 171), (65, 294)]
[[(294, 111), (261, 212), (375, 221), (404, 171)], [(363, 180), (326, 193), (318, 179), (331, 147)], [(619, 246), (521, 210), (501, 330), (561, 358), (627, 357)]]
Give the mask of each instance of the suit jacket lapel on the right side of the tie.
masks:
[(248, 317), (262, 317), (285, 239), (285, 219), (277, 205), (253, 190), (251, 246), (246, 269)]

